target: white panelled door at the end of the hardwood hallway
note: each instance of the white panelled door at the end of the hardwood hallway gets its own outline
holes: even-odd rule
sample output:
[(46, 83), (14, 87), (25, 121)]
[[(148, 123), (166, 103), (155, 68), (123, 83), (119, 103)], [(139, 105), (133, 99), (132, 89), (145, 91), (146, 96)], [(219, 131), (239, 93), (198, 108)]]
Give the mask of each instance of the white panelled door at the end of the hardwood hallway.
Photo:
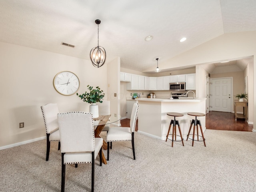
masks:
[(212, 111), (231, 112), (231, 78), (212, 79)]

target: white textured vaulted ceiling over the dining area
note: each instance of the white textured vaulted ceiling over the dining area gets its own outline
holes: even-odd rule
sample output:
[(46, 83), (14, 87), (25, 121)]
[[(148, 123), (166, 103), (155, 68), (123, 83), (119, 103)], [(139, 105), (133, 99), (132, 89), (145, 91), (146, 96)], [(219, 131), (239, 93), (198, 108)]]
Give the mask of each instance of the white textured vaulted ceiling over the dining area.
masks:
[[(0, 0), (0, 41), (89, 60), (100, 19), (106, 62), (120, 56), (121, 67), (147, 71), (156, 58), (256, 30), (255, 8), (256, 0)], [(154, 38), (146, 42), (148, 35)]]

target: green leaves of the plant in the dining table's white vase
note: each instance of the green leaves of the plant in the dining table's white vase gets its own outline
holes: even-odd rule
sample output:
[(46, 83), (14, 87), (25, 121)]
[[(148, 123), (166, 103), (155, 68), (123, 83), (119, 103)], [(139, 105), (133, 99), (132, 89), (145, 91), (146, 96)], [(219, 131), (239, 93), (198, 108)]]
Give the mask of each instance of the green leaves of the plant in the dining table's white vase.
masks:
[(89, 90), (88, 92), (86, 91), (82, 95), (78, 95), (78, 93), (76, 93), (76, 95), (78, 95), (78, 97), (80, 97), (81, 100), (87, 103), (96, 103), (96, 102), (102, 103), (102, 98), (105, 96), (103, 91), (100, 90), (98, 86), (96, 87), (96, 89), (93, 89), (93, 87), (90, 85), (88, 85), (87, 87)]

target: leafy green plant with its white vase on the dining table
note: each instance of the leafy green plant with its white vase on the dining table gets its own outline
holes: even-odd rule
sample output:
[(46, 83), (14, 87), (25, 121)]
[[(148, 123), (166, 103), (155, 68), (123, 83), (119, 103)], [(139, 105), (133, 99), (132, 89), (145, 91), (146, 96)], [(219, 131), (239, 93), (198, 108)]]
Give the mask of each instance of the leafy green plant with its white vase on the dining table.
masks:
[(94, 89), (92, 86), (88, 85), (88, 92), (86, 91), (82, 95), (78, 95), (78, 97), (81, 98), (84, 102), (90, 103), (89, 106), (89, 112), (92, 113), (93, 118), (99, 117), (99, 108), (96, 104), (97, 102), (102, 103), (102, 98), (105, 96), (104, 92), (100, 90), (100, 88), (97, 86), (96, 89)]

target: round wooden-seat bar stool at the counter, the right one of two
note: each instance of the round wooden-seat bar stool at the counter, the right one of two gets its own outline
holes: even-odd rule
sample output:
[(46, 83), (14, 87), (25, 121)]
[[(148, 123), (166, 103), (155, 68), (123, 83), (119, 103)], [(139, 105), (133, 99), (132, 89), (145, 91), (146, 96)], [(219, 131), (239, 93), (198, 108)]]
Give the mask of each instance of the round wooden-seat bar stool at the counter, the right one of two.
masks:
[[(196, 112), (188, 112), (188, 115), (195, 116), (195, 117), (197, 117), (197, 116), (198, 116), (198, 117), (205, 116), (205, 114), (203, 114), (203, 113), (196, 113)], [(201, 130), (201, 133), (202, 133), (202, 138), (203, 138), (203, 141), (204, 141), (204, 146), (206, 147), (206, 145), (205, 145), (204, 133), (203, 133), (202, 125), (201, 125), (201, 121), (198, 120), (197, 118), (196, 118), (196, 119), (193, 119), (193, 120), (191, 121), (190, 128), (189, 128), (188, 135), (187, 135), (187, 140), (188, 140), (188, 136), (189, 136), (189, 134), (190, 134), (190, 130), (191, 130), (193, 124), (194, 124), (194, 129), (193, 129), (192, 146), (194, 146), (195, 130), (196, 130), (196, 133), (197, 133), (197, 140), (198, 140), (198, 125), (199, 125), (199, 126), (200, 126), (200, 130)], [(198, 140), (198, 141), (199, 141), (199, 140)]]

